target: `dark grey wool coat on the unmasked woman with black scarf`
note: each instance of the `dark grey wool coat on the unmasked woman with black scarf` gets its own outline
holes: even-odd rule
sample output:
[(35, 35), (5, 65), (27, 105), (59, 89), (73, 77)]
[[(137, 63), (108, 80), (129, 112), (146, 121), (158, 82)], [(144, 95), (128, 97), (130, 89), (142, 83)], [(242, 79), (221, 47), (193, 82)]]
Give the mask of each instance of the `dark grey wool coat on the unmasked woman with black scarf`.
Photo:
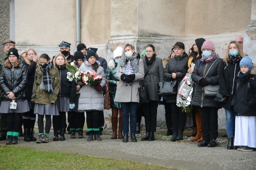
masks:
[(144, 73), (145, 75), (147, 73), (144, 81), (148, 87), (150, 100), (159, 101), (160, 98), (156, 94), (158, 91), (157, 83), (163, 81), (163, 63), (161, 58), (156, 57), (156, 60), (151, 65), (147, 66), (145, 57), (142, 58), (144, 64)]

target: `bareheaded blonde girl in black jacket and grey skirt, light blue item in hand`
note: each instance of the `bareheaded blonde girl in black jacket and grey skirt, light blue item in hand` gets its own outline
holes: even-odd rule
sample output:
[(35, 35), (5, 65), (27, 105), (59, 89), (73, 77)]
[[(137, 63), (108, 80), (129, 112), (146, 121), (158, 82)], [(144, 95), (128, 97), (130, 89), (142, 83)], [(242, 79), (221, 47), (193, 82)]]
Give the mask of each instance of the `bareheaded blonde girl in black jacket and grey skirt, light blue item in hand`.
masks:
[[(67, 72), (69, 72), (67, 68), (68, 61), (63, 54), (57, 54), (54, 57), (53, 65), (59, 70), (60, 76), (60, 90), (57, 98), (59, 115), (53, 116), (53, 140), (56, 141), (65, 140), (66, 112), (69, 111), (69, 108), (74, 107), (76, 82), (67, 79)], [(58, 136), (59, 129), (60, 137)]]

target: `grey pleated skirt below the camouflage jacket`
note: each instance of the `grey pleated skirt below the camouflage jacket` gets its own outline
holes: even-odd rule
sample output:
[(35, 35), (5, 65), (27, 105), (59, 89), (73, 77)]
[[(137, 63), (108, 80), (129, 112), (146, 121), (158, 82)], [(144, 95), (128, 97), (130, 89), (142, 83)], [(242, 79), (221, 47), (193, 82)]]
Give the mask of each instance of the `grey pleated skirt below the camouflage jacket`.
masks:
[(56, 104), (38, 104), (35, 103), (34, 114), (58, 116), (59, 111)]

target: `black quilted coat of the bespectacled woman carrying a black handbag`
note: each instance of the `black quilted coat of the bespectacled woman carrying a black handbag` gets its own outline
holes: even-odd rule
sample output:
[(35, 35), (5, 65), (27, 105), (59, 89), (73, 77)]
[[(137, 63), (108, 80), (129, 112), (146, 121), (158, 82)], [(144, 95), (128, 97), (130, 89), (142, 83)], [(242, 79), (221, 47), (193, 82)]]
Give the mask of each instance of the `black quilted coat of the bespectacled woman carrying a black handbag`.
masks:
[[(181, 80), (185, 77), (188, 70), (188, 55), (184, 52), (184, 54), (180, 57), (176, 55), (173, 58), (170, 58), (168, 61), (165, 70), (163, 72), (164, 78), (169, 79), (170, 81), (174, 80), (172, 78), (172, 73), (176, 73), (177, 84), (181, 82)], [(176, 103), (176, 95), (168, 96), (167, 103)]]

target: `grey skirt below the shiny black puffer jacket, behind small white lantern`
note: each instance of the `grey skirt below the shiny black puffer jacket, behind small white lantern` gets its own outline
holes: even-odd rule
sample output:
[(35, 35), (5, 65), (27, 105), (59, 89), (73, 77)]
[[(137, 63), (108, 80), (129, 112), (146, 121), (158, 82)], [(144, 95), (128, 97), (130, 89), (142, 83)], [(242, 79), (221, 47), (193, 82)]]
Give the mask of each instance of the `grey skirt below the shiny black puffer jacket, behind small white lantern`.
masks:
[(0, 106), (1, 113), (25, 113), (29, 111), (28, 100), (15, 101), (17, 103), (16, 109), (10, 109), (11, 100), (3, 100)]

